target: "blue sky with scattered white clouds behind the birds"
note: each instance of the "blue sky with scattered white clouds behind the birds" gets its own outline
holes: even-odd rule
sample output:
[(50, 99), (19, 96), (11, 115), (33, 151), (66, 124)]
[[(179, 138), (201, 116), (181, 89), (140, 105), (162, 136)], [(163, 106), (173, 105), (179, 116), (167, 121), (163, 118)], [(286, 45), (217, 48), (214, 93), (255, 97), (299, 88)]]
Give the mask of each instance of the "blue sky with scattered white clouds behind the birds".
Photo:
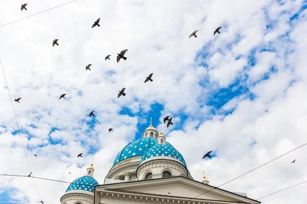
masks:
[[(24, 3), (28, 10), (20, 11)], [(5, 1), (0, 25), (63, 3)], [(202, 181), (204, 170), (213, 186), (305, 144), (306, 5), (78, 0), (0, 27), (0, 59), (12, 99), (21, 97), (13, 106), (32, 175), (72, 182), (94, 158), (94, 177), (103, 184), (118, 152), (141, 138), (150, 117), (194, 180)], [(91, 28), (98, 18), (100, 27)], [(213, 36), (217, 27), (221, 33)], [(198, 37), (188, 38), (195, 30)], [(117, 63), (124, 49), (127, 60)], [(150, 73), (153, 81), (144, 84)], [(126, 96), (117, 98), (124, 87)], [(0, 173), (28, 175), (3, 73), (0, 105)], [(166, 115), (173, 117), (168, 128)], [(203, 160), (209, 150), (215, 157)], [(307, 145), (221, 188), (257, 199), (307, 181), (306, 153)], [(69, 186), (35, 182), (41, 199), (53, 203)], [(259, 201), (305, 203), (306, 188)], [(40, 200), (32, 179), (8, 176), (0, 179), (1, 199)]]

